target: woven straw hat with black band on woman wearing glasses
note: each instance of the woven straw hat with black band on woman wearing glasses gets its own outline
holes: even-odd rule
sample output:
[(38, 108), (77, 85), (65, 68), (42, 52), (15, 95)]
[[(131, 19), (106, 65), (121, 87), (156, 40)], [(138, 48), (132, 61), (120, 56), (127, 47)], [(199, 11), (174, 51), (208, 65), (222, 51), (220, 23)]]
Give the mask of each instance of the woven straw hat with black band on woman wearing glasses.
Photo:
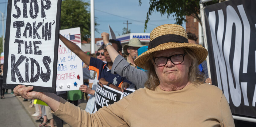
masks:
[(186, 30), (176, 24), (158, 26), (151, 31), (149, 37), (148, 50), (139, 55), (134, 61), (136, 66), (143, 69), (147, 58), (156, 51), (171, 48), (189, 48), (196, 55), (198, 64), (201, 64), (208, 55), (208, 51), (202, 45), (188, 43)]

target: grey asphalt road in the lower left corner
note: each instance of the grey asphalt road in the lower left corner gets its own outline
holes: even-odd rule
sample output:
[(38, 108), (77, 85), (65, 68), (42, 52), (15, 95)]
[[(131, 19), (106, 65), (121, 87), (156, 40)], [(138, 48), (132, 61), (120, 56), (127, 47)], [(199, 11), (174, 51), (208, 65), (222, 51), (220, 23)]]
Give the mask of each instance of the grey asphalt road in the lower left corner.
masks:
[(5, 94), (0, 99), (0, 126), (1, 127), (35, 127), (24, 106), (14, 94)]

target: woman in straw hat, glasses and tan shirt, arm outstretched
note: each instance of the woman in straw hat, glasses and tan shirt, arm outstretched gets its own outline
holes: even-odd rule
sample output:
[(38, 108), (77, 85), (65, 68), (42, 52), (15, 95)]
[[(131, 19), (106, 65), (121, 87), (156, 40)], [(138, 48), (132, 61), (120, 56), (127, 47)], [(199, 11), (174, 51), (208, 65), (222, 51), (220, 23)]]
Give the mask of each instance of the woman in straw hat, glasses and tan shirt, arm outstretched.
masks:
[(188, 43), (183, 27), (166, 24), (151, 32), (148, 51), (135, 60), (137, 66), (148, 70), (145, 88), (94, 114), (53, 93), (29, 92), (32, 86), (19, 85), (14, 92), (16, 96), (44, 101), (54, 115), (74, 127), (235, 126), (222, 91), (201, 84), (204, 76), (197, 65), (207, 54), (201, 45)]

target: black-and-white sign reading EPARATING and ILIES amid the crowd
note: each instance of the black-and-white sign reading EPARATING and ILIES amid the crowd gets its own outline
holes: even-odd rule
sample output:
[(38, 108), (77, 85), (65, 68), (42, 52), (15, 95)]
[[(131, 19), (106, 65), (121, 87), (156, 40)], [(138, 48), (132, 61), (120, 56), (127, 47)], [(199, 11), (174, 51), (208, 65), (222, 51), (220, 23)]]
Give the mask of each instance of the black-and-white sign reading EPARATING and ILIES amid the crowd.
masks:
[(135, 90), (127, 89), (122, 93), (121, 91), (115, 90), (109, 86), (103, 85), (103, 87), (101, 87), (101, 85), (98, 84), (94, 94), (95, 103), (93, 112), (98, 111), (100, 108), (108, 106), (109, 104), (114, 104), (114, 102), (121, 100), (123, 97), (134, 91)]

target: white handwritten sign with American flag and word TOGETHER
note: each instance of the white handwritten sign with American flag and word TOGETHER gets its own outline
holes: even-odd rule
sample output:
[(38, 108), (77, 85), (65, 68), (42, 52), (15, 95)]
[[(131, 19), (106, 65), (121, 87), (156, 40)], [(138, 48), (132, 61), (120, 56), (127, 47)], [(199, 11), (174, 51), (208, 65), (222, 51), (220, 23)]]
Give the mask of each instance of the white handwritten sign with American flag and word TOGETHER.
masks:
[[(59, 33), (81, 48), (80, 28), (60, 30)], [(82, 60), (59, 40), (56, 91), (78, 90), (83, 84)]]

